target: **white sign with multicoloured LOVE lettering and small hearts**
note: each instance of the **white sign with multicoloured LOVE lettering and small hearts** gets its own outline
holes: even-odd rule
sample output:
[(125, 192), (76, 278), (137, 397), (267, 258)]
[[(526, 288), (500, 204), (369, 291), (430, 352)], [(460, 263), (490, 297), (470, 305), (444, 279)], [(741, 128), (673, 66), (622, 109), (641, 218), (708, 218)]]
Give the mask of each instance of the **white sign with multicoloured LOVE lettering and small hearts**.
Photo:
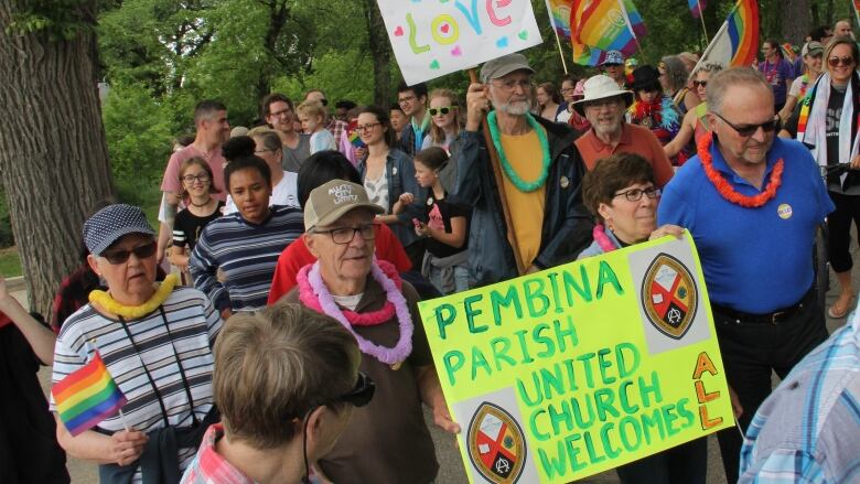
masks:
[(529, 0), (378, 0), (408, 85), (542, 42)]

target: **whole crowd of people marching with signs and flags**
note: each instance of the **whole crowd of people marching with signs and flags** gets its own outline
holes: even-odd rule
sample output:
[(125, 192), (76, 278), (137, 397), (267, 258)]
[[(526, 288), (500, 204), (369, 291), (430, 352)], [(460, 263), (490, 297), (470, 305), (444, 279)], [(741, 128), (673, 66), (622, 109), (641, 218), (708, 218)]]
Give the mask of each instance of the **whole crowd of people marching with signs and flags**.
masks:
[[(845, 24), (813, 31), (796, 62), (767, 40), (753, 67), (612, 51), (557, 88), (509, 54), (464, 97), (402, 84), (391, 106), (331, 112), (322, 90), (272, 93), (250, 129), (200, 101), (159, 230), (138, 207), (94, 207), (54, 332), (0, 278), (7, 374), (41, 362), (56, 384), (100, 358), (127, 398), (71, 432), (39, 411), (58, 413), (34, 379), (4, 376), (3, 418), (22, 416), (7, 433), (42, 464), (0, 442), (0, 481), (67, 482), (66, 452), (105, 483), (433, 482), (422, 406), (461, 429), (419, 300), (688, 232), (746, 432), (718, 434), (728, 482), (860, 482), (860, 318), (825, 325), (856, 301), (860, 53)], [(707, 460), (699, 439), (616, 472), (705, 483)]]

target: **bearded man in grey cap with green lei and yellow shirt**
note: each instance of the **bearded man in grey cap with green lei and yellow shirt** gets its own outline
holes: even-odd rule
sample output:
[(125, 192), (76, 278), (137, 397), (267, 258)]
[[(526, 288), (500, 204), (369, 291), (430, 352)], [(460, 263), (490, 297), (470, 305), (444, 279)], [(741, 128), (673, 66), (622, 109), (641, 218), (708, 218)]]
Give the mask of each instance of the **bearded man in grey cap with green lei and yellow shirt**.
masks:
[[(576, 133), (529, 114), (534, 73), (525, 56), (510, 54), (484, 64), (481, 83), (469, 86), (456, 182), (449, 196), (472, 207), (471, 286), (573, 260), (591, 243), (593, 223), (582, 205), (584, 165), (573, 146)], [(502, 165), (501, 187), (480, 132), (491, 104), (495, 110), (486, 122)]]

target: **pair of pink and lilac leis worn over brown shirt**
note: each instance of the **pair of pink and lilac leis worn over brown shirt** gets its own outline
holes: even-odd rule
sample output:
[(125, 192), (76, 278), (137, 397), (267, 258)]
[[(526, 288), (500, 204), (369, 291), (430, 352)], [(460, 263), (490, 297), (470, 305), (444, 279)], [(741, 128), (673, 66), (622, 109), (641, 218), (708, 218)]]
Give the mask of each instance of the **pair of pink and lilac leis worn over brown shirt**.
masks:
[[(386, 299), (394, 305), (400, 327), (400, 338), (393, 348), (369, 342), (353, 330), (353, 325), (344, 314), (344, 311), (337, 306), (331, 292), (329, 292), (329, 288), (325, 287), (325, 282), (323, 282), (322, 275), (320, 273), (319, 261), (314, 262), (313, 266), (305, 266), (302, 268), (302, 272), (304, 272), (304, 280), (310, 287), (309, 289), (307, 287), (300, 289), (299, 299), (302, 303), (305, 303), (305, 300), (316, 299), (316, 303), (321, 310), (316, 310), (312, 305), (309, 306), (337, 320), (341, 325), (353, 334), (358, 342), (358, 349), (361, 349), (362, 353), (375, 357), (380, 363), (391, 365), (391, 369), (397, 370), (400, 368), (402, 362), (412, 353), (412, 332), (415, 326), (412, 325), (412, 318), (409, 314), (409, 308), (406, 305), (404, 294), (397, 289), (395, 282), (383, 272), (376, 261), (370, 268), (370, 273), (374, 280), (379, 282), (383, 289), (385, 289)], [(379, 316), (377, 315), (377, 318)], [(381, 322), (383, 321), (379, 321), (376, 324), (380, 324)]]

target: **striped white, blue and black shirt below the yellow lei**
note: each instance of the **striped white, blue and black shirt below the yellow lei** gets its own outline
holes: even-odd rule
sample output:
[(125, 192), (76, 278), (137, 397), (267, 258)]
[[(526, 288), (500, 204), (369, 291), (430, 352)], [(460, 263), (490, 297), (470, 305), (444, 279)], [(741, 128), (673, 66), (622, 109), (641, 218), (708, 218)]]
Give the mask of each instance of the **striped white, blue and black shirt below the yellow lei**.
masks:
[[(192, 288), (175, 288), (162, 308), (166, 321), (157, 310), (127, 322), (133, 344), (120, 321), (99, 314), (90, 304), (82, 306), (63, 324), (54, 347), (52, 383), (56, 384), (83, 367), (98, 348), (114, 381), (128, 399), (122, 407), (125, 419), (119, 415), (107, 418), (96, 430), (114, 433), (123, 430), (123, 422), (144, 433), (164, 427), (159, 397), (144, 367), (161, 395), (170, 426), (191, 426), (192, 408), (176, 356), (185, 373), (197, 419), (203, 420), (212, 408), (212, 345), (223, 321), (205, 294)], [(140, 353), (135, 351), (135, 345)], [(53, 396), (50, 409), (56, 412)], [(181, 469), (191, 462), (195, 450), (180, 450)], [(135, 482), (140, 480), (138, 469)]]

